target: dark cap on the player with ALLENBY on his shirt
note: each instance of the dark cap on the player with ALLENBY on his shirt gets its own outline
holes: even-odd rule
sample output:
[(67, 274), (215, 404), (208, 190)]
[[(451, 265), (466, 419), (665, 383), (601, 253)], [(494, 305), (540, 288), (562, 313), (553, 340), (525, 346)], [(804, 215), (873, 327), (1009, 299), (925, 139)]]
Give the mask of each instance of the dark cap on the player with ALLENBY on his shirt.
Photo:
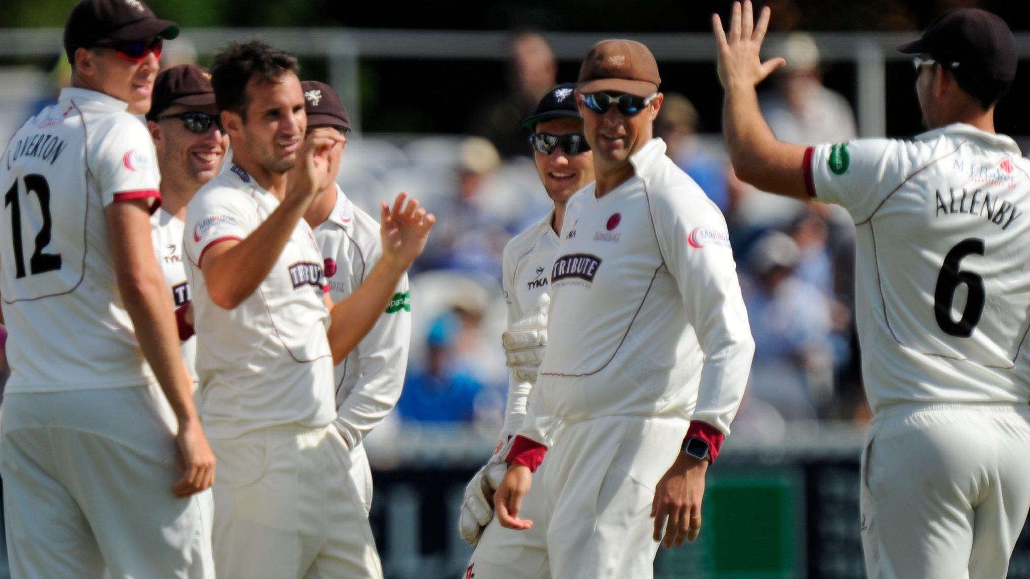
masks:
[(959, 8), (930, 23), (923, 37), (898, 46), (909, 55), (928, 53), (957, 62), (956, 74), (1010, 83), (1016, 78), (1016, 39), (1005, 21), (980, 8)]

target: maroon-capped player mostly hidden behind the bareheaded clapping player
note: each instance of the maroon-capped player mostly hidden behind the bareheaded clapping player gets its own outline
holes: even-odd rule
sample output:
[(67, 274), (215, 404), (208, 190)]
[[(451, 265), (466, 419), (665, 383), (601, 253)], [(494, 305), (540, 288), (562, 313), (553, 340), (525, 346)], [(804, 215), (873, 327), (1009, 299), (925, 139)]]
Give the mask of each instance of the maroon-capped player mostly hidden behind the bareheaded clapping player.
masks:
[[(350, 117), (340, 96), (324, 82), (305, 80), (307, 137), (329, 133), (340, 138), (330, 150), (330, 170), (304, 218), (321, 249), (325, 281), (334, 303), (350, 297), (382, 258), (379, 224), (354, 206), (336, 183), (340, 159), (350, 130)], [(333, 422), (350, 448), (350, 474), (368, 514), (372, 508), (372, 471), (362, 441), (386, 417), (404, 386), (411, 343), (411, 304), (408, 276), (401, 277), (389, 304), (375, 326), (350, 353), (336, 365), (336, 419)]]

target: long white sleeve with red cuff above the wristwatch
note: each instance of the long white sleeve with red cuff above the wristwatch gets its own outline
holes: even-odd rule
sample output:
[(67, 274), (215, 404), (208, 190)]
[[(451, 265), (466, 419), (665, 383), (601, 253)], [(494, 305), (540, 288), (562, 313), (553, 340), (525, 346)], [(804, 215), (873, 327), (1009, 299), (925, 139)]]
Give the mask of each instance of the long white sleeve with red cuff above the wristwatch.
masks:
[(726, 222), (699, 191), (652, 195), (651, 214), (665, 266), (705, 353), (691, 433), (707, 433), (702, 438), (714, 458), (729, 435), (755, 350)]

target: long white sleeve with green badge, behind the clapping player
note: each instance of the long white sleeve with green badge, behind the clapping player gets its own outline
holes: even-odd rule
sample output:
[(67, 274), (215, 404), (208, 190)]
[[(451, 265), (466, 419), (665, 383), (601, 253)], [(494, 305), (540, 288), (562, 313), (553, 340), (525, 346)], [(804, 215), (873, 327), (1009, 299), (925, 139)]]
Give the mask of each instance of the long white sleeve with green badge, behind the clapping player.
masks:
[[(370, 261), (369, 271), (375, 266)], [(356, 287), (360, 279), (352, 279)], [(401, 278), (386, 311), (358, 342), (360, 375), (337, 410), (336, 423), (350, 448), (354, 448), (397, 406), (408, 369), (411, 344), (411, 294), (407, 274)], [(346, 364), (344, 362), (343, 364)]]

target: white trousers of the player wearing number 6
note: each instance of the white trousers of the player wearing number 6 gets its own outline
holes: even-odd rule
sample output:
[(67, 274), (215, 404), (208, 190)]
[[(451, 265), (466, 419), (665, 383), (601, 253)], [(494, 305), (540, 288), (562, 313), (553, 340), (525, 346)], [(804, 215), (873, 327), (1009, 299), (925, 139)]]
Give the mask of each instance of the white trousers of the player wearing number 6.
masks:
[(1030, 509), (1030, 407), (900, 404), (862, 455), (869, 579), (1004, 579)]

